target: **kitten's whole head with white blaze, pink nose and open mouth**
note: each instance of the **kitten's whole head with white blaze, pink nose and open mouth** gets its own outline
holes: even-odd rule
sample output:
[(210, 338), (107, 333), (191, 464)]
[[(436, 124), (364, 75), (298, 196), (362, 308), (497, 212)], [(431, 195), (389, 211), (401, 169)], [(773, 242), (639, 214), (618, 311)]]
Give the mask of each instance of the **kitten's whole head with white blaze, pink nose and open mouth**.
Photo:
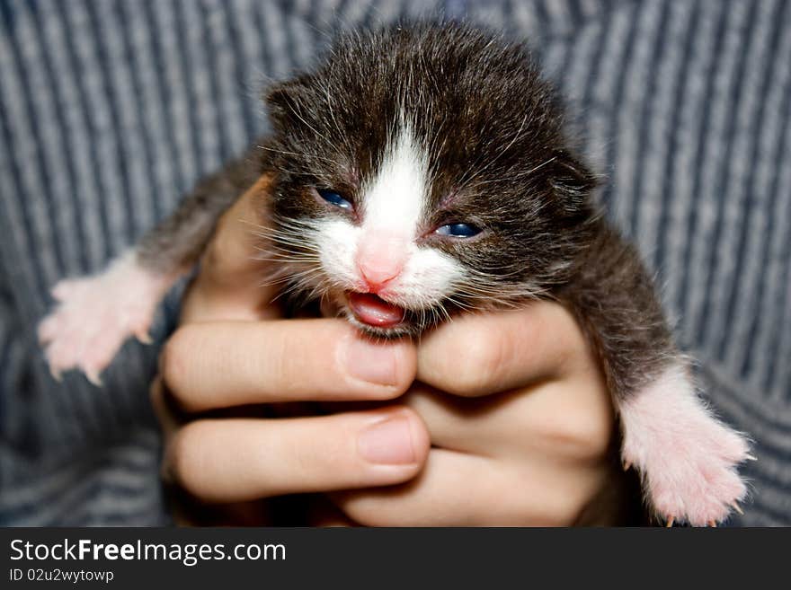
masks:
[(454, 24), (350, 35), (266, 102), (287, 289), (371, 334), (540, 295), (582, 245), (591, 174), (520, 45)]

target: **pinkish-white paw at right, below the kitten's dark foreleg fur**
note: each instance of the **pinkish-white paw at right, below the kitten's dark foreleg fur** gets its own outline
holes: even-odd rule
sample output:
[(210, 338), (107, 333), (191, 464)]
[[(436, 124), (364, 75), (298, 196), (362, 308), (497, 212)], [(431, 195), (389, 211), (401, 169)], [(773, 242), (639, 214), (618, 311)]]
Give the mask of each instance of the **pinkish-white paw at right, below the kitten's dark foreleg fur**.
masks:
[(623, 459), (641, 471), (644, 491), (669, 524), (715, 525), (747, 496), (736, 465), (747, 440), (717, 420), (685, 367), (671, 367), (621, 407)]

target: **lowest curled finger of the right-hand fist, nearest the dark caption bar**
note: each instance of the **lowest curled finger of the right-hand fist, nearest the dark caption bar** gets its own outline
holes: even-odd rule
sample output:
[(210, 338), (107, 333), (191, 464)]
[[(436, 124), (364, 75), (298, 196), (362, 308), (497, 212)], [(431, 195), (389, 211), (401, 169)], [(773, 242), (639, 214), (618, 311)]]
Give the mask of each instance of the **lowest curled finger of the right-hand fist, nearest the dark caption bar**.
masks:
[(414, 480), (331, 498), (367, 526), (556, 526), (573, 524), (600, 484), (592, 469), (582, 477), (432, 448)]

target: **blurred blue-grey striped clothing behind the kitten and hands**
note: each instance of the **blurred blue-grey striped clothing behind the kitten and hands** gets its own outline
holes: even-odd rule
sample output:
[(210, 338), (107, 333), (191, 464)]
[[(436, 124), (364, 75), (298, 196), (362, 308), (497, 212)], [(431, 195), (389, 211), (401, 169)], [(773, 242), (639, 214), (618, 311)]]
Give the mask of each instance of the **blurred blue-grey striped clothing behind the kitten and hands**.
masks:
[(262, 88), (333, 31), (440, 15), (542, 57), (702, 387), (754, 438), (730, 524), (791, 525), (787, 0), (0, 0), (0, 524), (171, 522), (156, 347), (128, 343), (102, 390), (56, 383), (35, 341), (49, 286), (102, 269), (264, 132)]

